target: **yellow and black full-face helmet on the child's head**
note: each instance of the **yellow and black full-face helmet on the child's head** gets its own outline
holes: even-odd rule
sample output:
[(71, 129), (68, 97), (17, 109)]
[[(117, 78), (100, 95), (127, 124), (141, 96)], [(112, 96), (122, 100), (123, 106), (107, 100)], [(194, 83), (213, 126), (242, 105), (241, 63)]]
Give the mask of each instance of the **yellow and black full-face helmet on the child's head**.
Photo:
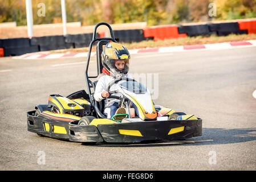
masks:
[[(123, 45), (109, 42), (106, 44), (105, 48), (101, 54), (101, 60), (103, 67), (115, 77), (121, 77), (123, 74), (127, 74), (129, 71), (129, 51)], [(120, 70), (115, 67), (115, 62), (119, 60), (124, 60), (124, 69)]]

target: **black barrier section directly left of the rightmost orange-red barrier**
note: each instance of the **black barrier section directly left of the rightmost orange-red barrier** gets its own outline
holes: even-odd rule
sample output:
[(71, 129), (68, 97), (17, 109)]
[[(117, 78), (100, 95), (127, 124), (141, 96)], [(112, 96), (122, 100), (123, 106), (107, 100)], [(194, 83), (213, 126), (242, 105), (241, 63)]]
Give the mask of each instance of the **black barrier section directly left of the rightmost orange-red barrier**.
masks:
[(218, 36), (226, 36), (229, 34), (247, 34), (246, 30), (239, 30), (237, 22), (229, 23), (212, 23), (208, 24), (210, 32), (216, 32)]

